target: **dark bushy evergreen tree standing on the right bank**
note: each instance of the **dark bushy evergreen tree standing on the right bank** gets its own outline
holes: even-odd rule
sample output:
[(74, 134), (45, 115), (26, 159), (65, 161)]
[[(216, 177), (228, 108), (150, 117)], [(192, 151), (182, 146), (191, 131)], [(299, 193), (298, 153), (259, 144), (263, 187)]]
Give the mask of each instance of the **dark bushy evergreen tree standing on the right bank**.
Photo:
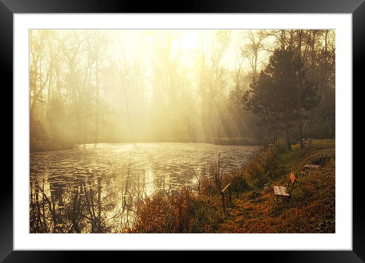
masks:
[[(245, 109), (259, 116), (258, 125), (272, 125), (285, 130), (286, 144), (291, 150), (290, 130), (298, 118), (298, 77), (293, 51), (275, 49), (269, 64), (258, 79), (253, 79), (250, 89), (243, 96)], [(317, 85), (301, 72), (301, 108), (315, 107), (320, 97)]]

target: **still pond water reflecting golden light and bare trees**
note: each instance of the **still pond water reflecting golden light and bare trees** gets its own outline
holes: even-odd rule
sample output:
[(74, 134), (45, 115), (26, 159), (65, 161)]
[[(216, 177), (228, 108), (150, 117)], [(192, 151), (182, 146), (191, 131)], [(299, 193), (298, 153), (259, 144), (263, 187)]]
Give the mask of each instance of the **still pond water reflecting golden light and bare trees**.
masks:
[[(257, 146), (84, 144), (30, 155), (30, 232), (123, 232), (133, 204), (157, 191), (194, 189), (217, 160), (245, 165)], [(132, 219), (129, 219), (128, 218)]]

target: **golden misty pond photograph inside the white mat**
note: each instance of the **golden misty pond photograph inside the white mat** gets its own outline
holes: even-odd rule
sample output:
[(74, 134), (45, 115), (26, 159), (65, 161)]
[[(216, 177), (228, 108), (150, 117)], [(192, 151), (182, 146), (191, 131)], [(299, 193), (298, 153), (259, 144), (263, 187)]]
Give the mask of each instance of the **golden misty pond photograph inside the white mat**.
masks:
[(335, 29), (28, 39), (29, 233), (336, 233)]

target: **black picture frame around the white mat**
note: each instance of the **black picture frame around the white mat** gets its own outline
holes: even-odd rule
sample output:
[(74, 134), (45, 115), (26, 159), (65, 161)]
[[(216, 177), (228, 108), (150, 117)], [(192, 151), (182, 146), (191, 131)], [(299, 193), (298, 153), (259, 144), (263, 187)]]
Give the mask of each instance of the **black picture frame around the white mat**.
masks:
[[(163, 2), (162, 2), (163, 3)], [(249, 1), (181, 1), (158, 4), (134, 1), (108, 2), (98, 0), (0, 0), (0, 75), (12, 87), (13, 71), (13, 14), (15, 13), (351, 13), (353, 36), (353, 83), (362, 79), (365, 47), (364, 0), (249, 0)], [(3, 83), (2, 83), (3, 84)], [(1, 85), (5, 89), (5, 85)], [(351, 91), (349, 89), (349, 92)], [(8, 89), (10, 90), (10, 89)], [(12, 96), (12, 95), (11, 95)], [(14, 132), (14, 131), (13, 131)], [(9, 133), (9, 131), (8, 131)], [(347, 175), (352, 176), (352, 175)], [(0, 202), (0, 261), (42, 262), (72, 261), (75, 252), (69, 251), (13, 251), (13, 180), (3, 174), (7, 185)], [(7, 177), (7, 178), (5, 178)], [(358, 181), (358, 178), (353, 177)], [(365, 227), (361, 183), (353, 184), (353, 250), (352, 251), (260, 251), (260, 257), (270, 261), (299, 262), (363, 262), (365, 260)], [(242, 251), (254, 254), (254, 251)], [(83, 252), (76, 252), (83, 253)], [(122, 252), (122, 253), (125, 253)], [(95, 253), (83, 253), (84, 260)], [(255, 255), (253, 255), (255, 256)], [(241, 257), (241, 256), (240, 256)], [(74, 258), (76, 259), (76, 258)]]

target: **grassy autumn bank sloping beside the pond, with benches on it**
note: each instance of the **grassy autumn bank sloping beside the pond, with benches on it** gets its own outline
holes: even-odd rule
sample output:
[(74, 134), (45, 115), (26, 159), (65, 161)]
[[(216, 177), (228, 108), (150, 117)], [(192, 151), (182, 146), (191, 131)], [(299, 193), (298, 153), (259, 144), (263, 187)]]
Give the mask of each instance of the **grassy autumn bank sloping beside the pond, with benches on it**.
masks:
[[(335, 142), (315, 140), (301, 149), (270, 147), (255, 154), (244, 169), (223, 174), (219, 161), (211, 177), (199, 180), (197, 192), (155, 194), (138, 204), (131, 232), (333, 233), (335, 232)], [(304, 164), (319, 164), (303, 170)], [(273, 185), (297, 180), (291, 199), (276, 203)], [(269, 172), (269, 174), (267, 174)], [(231, 182), (232, 202), (222, 211), (219, 190)]]

